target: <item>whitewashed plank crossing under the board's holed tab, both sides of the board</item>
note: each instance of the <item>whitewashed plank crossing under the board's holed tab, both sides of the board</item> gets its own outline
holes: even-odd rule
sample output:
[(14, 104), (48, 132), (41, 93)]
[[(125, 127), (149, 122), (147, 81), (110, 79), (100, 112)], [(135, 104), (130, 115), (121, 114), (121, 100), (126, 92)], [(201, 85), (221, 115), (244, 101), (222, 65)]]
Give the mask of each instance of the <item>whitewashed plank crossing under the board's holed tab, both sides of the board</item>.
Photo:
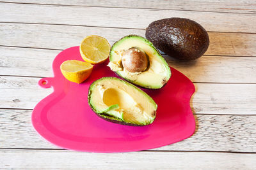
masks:
[[(0, 108), (33, 109), (52, 89), (40, 89), (39, 78), (1, 76)], [(255, 115), (256, 84), (194, 83), (193, 113)]]

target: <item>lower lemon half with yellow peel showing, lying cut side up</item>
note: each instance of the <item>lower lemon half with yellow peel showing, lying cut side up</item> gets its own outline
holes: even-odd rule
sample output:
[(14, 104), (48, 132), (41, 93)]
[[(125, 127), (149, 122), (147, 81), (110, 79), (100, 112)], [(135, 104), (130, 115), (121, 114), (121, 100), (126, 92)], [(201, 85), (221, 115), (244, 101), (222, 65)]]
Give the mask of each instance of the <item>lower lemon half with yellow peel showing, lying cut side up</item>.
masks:
[(61, 73), (67, 80), (82, 83), (92, 73), (93, 65), (79, 60), (66, 60), (60, 66)]

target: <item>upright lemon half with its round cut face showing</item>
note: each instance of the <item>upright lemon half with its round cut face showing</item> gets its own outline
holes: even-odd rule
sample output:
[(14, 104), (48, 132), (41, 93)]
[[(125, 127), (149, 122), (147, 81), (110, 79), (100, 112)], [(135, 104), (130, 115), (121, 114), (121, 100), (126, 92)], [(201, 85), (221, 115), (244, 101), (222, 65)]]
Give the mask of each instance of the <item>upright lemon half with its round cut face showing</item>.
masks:
[(86, 62), (99, 64), (108, 59), (110, 45), (107, 39), (92, 35), (83, 39), (79, 50)]

